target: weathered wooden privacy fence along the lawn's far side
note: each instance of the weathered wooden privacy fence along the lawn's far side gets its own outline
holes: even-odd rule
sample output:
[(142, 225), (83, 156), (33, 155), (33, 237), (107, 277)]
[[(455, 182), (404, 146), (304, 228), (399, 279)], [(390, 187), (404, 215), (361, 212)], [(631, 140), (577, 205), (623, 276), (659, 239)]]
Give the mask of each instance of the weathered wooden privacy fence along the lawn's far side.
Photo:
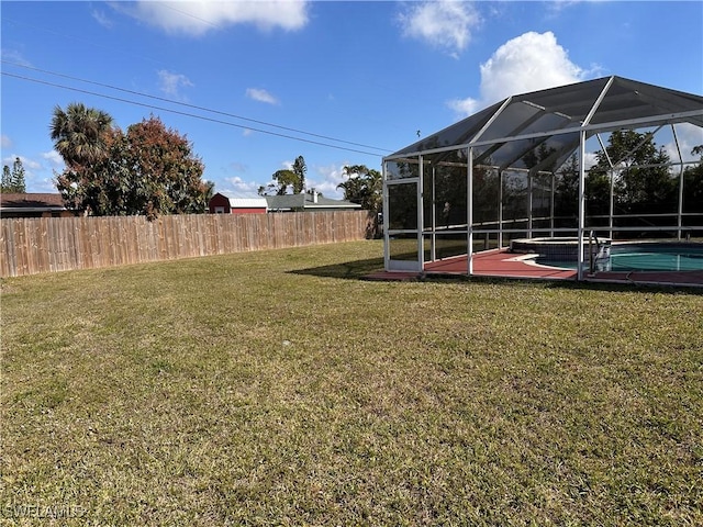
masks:
[(0, 277), (364, 239), (367, 211), (0, 221)]

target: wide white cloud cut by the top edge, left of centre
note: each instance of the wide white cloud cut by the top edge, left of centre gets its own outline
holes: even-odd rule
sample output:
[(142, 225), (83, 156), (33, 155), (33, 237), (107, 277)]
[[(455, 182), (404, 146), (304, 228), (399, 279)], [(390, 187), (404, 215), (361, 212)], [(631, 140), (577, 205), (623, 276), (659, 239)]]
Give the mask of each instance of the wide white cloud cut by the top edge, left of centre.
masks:
[[(114, 4), (113, 4), (114, 5)], [(169, 33), (199, 36), (209, 31), (235, 24), (254, 24), (261, 30), (279, 27), (300, 30), (308, 23), (309, 2), (300, 0), (271, 1), (138, 1), (114, 9), (158, 26)]]

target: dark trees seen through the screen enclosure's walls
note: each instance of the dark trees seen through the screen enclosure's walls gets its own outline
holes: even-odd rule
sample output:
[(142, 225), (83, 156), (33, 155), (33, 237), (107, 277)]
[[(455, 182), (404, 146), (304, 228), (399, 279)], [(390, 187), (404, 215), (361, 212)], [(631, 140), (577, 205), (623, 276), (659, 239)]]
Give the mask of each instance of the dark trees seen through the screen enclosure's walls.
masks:
[[(428, 156), (434, 171), (425, 178), (423, 206), (425, 221), (435, 217), (442, 225), (461, 225), (467, 215), (467, 166), (459, 150)], [(606, 225), (603, 217), (611, 211), (621, 216), (615, 226), (669, 226), (678, 213), (681, 182), (684, 213), (703, 213), (703, 145), (692, 148), (696, 161), (681, 165), (672, 161), (666, 148), (654, 136), (636, 131), (614, 131), (604, 149), (595, 153), (595, 162), (585, 173), (585, 213), (593, 226)], [(558, 227), (572, 227), (579, 212), (579, 159), (571, 156), (557, 166), (558, 153), (540, 139), (523, 155), (521, 170), (501, 170), (490, 158), (473, 167), (473, 221), (492, 223), (499, 217), (498, 201), (502, 200), (503, 221), (525, 218), (532, 177), (532, 213), (549, 216), (554, 175), (554, 215)], [(401, 177), (416, 177), (420, 166), (398, 162)], [(502, 177), (501, 177), (502, 176)], [(434, 189), (432, 183), (434, 182)], [(352, 183), (353, 184), (353, 183)], [(429, 199), (433, 197), (433, 199)], [(393, 198), (397, 227), (404, 225), (405, 215), (416, 214), (415, 192), (403, 193), (399, 188)], [(404, 212), (406, 211), (406, 212)], [(660, 215), (657, 217), (657, 215)]]

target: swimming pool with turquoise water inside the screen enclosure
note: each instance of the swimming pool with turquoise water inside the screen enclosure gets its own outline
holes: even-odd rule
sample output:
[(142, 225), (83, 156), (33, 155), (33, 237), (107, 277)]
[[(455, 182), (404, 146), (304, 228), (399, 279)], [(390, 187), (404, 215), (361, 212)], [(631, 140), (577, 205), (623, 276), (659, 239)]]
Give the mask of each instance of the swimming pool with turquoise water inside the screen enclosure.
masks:
[[(549, 267), (576, 269), (573, 260), (555, 260), (537, 257), (536, 264)], [(590, 262), (584, 262), (590, 268)], [(701, 271), (703, 270), (703, 244), (690, 243), (613, 243), (610, 256), (598, 258), (595, 271)]]

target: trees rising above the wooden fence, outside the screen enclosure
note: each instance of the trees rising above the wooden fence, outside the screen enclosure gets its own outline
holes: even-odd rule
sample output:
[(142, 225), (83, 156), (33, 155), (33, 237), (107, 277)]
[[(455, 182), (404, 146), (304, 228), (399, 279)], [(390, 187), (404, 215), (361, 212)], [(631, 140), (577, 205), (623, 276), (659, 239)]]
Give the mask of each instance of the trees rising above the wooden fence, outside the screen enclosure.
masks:
[[(205, 212), (213, 195), (214, 183), (202, 179), (204, 165), (192, 144), (154, 115), (122, 131), (109, 113), (69, 103), (66, 109), (54, 109), (49, 134), (66, 165), (56, 175), (56, 188), (69, 210), (154, 218)], [(305, 159), (298, 156), (290, 169), (276, 171), (271, 183), (260, 187), (258, 193), (300, 193), (305, 189), (306, 170)], [(380, 210), (380, 172), (352, 165), (344, 167), (344, 173), (347, 181), (338, 186), (344, 198), (364, 209)], [(23, 177), (21, 162), (12, 171), (5, 167), (3, 191), (9, 191), (7, 183), (7, 189), (24, 192), (24, 187), (14, 183), (19, 175)]]

